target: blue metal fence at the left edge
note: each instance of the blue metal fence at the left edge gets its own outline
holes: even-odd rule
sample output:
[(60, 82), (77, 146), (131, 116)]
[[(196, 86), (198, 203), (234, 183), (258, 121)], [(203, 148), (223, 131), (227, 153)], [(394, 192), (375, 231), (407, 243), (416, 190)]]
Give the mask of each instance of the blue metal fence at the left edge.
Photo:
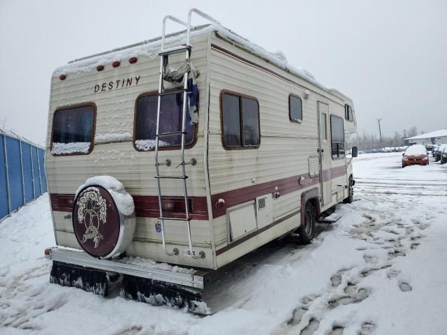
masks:
[(47, 191), (45, 151), (0, 129), (0, 221)]

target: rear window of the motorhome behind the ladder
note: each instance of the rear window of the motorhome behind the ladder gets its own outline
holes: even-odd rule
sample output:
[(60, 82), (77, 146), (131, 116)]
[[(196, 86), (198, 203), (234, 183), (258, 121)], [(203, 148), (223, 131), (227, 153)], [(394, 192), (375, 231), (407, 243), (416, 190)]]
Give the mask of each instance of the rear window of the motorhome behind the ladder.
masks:
[[(134, 120), (134, 147), (138, 151), (152, 151), (156, 142), (156, 111), (158, 96), (146, 94), (136, 102)], [(183, 94), (167, 94), (161, 96), (160, 133), (182, 131)], [(191, 124), (189, 112), (186, 112), (185, 147), (192, 147), (196, 140), (196, 124)], [(161, 149), (177, 149), (180, 147), (182, 135), (159, 137)]]

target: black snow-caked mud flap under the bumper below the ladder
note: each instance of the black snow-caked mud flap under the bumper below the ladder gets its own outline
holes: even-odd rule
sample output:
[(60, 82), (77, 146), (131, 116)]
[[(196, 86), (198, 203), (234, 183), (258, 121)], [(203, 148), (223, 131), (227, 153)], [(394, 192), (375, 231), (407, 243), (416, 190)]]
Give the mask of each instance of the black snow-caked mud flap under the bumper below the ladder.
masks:
[(166, 305), (187, 308), (188, 311), (196, 314), (212, 314), (211, 309), (201, 299), (200, 290), (154, 281), (153, 279), (123, 275), (119, 295), (124, 299), (146, 302), (154, 306)]

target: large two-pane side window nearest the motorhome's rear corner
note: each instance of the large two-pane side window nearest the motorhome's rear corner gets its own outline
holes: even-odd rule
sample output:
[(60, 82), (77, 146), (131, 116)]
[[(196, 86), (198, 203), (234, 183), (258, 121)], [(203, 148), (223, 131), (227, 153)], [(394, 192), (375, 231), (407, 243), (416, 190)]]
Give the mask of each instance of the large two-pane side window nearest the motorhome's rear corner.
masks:
[(222, 144), (227, 149), (257, 148), (261, 142), (259, 104), (255, 98), (223, 91)]

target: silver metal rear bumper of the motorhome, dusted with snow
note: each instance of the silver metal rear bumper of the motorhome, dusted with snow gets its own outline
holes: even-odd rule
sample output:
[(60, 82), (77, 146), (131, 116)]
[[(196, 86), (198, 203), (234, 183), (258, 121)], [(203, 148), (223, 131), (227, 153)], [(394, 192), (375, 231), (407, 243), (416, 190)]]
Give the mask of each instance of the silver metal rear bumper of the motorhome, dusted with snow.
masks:
[(100, 271), (116, 272), (140, 278), (153, 279), (166, 283), (184, 285), (191, 288), (204, 289), (205, 275), (207, 272), (194, 270), (191, 273), (170, 271), (157, 267), (145, 267), (132, 265), (119, 260), (101, 260), (87, 255), (84, 251), (70, 250), (65, 248), (47, 248), (45, 258), (54, 262), (66, 263), (68, 265), (78, 265)]

